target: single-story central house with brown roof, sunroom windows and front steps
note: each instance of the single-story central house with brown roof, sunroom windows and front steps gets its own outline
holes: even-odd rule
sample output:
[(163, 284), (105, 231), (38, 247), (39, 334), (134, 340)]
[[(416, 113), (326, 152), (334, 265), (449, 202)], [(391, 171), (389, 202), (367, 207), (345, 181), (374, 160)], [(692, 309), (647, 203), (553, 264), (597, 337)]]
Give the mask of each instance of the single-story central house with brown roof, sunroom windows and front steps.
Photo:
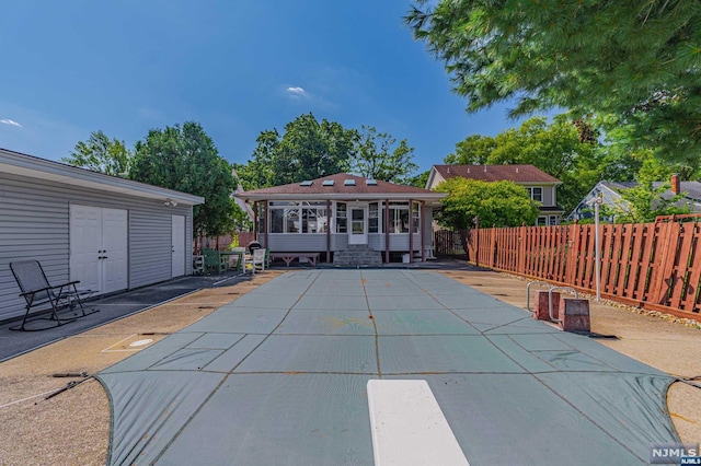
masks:
[(338, 173), (235, 196), (253, 205), (258, 242), (272, 254), (361, 266), (425, 258), (445, 194)]

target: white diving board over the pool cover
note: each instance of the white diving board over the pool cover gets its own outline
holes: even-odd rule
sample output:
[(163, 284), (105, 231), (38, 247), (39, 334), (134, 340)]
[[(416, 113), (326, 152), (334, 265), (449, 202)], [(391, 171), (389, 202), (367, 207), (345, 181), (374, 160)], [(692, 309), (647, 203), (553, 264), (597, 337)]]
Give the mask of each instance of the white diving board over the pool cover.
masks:
[(375, 465), (467, 465), (426, 381), (368, 381)]

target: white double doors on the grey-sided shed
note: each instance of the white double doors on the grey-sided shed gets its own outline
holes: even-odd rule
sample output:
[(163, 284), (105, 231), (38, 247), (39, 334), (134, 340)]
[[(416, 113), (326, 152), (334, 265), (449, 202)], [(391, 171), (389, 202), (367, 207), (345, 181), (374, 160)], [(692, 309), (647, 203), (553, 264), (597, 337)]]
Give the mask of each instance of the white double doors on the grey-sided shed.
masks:
[(110, 293), (128, 287), (127, 211), (70, 206), (70, 279)]

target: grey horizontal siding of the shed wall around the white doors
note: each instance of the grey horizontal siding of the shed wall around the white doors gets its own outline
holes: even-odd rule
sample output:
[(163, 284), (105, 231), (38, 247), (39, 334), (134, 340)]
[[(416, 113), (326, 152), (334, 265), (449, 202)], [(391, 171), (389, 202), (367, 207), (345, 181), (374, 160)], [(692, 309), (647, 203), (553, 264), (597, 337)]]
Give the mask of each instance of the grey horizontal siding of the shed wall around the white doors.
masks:
[(24, 312), (10, 263), (38, 259), (50, 283), (69, 280), (71, 203), (128, 211), (129, 289), (171, 278), (171, 215), (185, 215), (192, 273), (192, 207), (0, 173), (0, 321)]

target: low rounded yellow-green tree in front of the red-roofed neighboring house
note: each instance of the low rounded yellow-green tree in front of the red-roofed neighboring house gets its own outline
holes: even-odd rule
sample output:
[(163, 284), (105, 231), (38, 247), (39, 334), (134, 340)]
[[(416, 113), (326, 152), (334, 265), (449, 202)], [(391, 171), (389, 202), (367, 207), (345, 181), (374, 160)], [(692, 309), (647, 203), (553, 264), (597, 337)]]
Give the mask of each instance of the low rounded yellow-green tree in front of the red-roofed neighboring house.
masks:
[(448, 196), (435, 219), (450, 230), (474, 226), (475, 217), (483, 228), (532, 225), (539, 214), (539, 202), (513, 182), (450, 178), (436, 186), (436, 190)]

